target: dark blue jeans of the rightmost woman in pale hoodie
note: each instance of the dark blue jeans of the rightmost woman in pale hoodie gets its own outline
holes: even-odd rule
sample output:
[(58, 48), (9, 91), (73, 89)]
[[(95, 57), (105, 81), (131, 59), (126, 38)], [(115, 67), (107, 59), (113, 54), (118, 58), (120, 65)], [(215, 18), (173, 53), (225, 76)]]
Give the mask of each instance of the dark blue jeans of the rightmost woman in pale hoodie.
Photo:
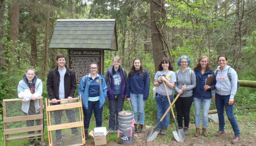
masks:
[(235, 133), (235, 136), (240, 136), (240, 130), (237, 124), (237, 120), (234, 117), (233, 113), (233, 105), (227, 105), (229, 102), (230, 95), (219, 95), (216, 93), (215, 95), (215, 105), (218, 111), (218, 118), (219, 118), (219, 130), (224, 131), (225, 126), (225, 119), (224, 119), (224, 107), (226, 109), (227, 118), (229, 119), (229, 122), (233, 128), (233, 131)]

